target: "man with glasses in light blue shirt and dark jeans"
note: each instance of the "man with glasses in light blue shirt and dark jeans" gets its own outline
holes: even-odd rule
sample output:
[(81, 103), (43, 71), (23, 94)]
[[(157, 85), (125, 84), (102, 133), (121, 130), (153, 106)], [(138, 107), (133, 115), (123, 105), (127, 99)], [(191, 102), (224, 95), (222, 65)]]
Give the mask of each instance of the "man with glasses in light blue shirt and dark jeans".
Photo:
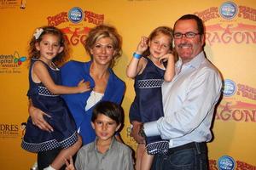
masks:
[[(162, 86), (165, 116), (142, 124), (139, 130), (135, 126), (133, 133), (170, 140), (168, 153), (155, 156), (152, 169), (205, 170), (206, 142), (212, 139), (212, 116), (222, 80), (203, 52), (204, 26), (199, 17), (183, 15), (174, 24), (173, 37), (179, 60), (172, 82)], [(133, 136), (142, 142), (138, 135)]]

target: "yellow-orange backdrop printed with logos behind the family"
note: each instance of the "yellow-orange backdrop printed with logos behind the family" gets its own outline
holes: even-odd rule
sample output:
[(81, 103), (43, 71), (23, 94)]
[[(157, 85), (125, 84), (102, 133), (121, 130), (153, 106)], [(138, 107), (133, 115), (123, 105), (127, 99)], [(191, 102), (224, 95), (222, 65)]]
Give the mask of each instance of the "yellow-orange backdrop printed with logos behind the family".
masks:
[[(205, 22), (207, 58), (224, 78), (224, 94), (216, 111), (208, 144), (212, 170), (256, 169), (256, 3), (255, 0), (0, 0), (0, 162), (1, 169), (27, 170), (36, 155), (20, 148), (26, 130), (27, 49), (39, 26), (64, 31), (72, 59), (87, 61), (83, 43), (90, 28), (115, 26), (123, 37), (123, 54), (113, 68), (125, 81), (122, 106), (125, 144), (130, 137), (129, 108), (133, 80), (125, 68), (141, 36), (157, 26), (173, 26), (183, 14)], [(204, 104), (202, 104), (204, 105)]]

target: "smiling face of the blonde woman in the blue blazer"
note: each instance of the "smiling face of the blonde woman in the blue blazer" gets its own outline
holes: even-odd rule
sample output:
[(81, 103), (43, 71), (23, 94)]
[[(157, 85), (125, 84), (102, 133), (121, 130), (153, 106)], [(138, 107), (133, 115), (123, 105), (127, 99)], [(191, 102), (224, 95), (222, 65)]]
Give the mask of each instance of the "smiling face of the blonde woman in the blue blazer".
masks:
[(100, 38), (90, 48), (90, 54), (93, 56), (93, 62), (96, 64), (109, 66), (115, 54), (112, 39), (110, 37)]

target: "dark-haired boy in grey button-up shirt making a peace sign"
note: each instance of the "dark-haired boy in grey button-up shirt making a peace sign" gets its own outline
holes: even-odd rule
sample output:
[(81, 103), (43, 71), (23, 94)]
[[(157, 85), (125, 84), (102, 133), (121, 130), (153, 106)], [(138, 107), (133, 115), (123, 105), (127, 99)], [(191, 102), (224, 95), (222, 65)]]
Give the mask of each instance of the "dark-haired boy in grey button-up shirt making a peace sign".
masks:
[[(119, 143), (114, 134), (123, 122), (123, 110), (109, 101), (98, 103), (92, 112), (91, 125), (96, 132), (96, 140), (84, 145), (78, 152), (77, 170), (133, 170), (131, 149)], [(66, 161), (67, 170), (74, 170), (73, 160)]]

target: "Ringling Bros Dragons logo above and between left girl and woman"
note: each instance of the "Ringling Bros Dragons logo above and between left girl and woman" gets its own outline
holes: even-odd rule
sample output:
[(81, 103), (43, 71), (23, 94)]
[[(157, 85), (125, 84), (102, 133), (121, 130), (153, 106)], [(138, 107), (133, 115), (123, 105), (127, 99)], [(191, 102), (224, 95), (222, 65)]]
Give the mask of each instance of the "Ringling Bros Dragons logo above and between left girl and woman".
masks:
[[(48, 26), (59, 26), (63, 23), (70, 23), (70, 26), (61, 28), (64, 32), (67, 42), (73, 46), (84, 44), (90, 27), (83, 26), (85, 23), (93, 25), (101, 25), (104, 21), (104, 14), (96, 14), (89, 10), (84, 10), (78, 7), (71, 8), (68, 12), (61, 12), (53, 16), (48, 16)], [(74, 27), (75, 26), (75, 27)]]

